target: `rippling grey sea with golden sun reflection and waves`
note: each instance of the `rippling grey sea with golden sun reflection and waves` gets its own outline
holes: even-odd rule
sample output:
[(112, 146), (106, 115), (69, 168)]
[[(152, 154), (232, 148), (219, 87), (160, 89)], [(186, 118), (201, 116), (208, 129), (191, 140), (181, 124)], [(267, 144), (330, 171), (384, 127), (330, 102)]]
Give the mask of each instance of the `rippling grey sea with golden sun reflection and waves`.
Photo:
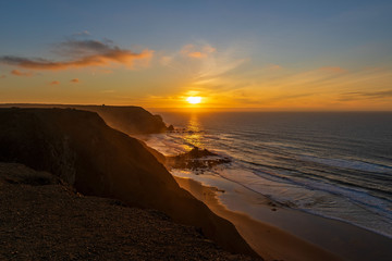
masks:
[(198, 147), (231, 160), (173, 175), (234, 183), (392, 238), (392, 112), (155, 112), (175, 130), (145, 136), (150, 147), (166, 156)]

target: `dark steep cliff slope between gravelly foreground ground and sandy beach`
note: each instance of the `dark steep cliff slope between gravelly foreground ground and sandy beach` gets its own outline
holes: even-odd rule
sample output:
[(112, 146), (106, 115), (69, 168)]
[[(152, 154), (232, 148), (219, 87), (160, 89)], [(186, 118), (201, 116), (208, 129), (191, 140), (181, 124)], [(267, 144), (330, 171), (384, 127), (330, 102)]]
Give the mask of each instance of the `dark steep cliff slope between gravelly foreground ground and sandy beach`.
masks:
[(179, 187), (139, 140), (98, 114), (72, 109), (0, 109), (0, 162), (46, 171), (78, 192), (156, 209), (201, 228), (223, 249), (257, 254), (235, 227)]

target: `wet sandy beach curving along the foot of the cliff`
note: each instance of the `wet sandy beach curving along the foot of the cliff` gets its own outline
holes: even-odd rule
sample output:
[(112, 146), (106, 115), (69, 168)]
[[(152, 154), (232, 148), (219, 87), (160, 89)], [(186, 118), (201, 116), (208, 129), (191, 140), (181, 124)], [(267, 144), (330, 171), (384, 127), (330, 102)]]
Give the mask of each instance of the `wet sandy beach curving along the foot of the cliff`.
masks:
[[(173, 176), (182, 188), (205, 202), (212, 212), (232, 222), (244, 239), (266, 260), (388, 260), (392, 257), (392, 240), (370, 231), (271, 207), (266, 201), (254, 207), (261, 209), (267, 219), (256, 220), (242, 211), (229, 210), (225, 202), (218, 198), (218, 194), (222, 192), (219, 188), (205, 186), (188, 177)], [(277, 222), (269, 222), (268, 219)]]

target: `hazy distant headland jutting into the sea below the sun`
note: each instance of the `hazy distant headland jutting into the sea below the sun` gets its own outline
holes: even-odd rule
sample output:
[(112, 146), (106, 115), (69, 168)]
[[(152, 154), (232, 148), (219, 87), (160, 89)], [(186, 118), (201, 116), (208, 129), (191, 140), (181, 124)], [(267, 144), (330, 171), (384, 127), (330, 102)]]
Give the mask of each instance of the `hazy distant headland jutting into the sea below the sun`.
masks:
[(160, 115), (152, 115), (142, 107), (77, 105), (77, 104), (29, 104), (9, 103), (0, 108), (61, 108), (97, 112), (111, 127), (126, 134), (152, 134), (167, 130)]

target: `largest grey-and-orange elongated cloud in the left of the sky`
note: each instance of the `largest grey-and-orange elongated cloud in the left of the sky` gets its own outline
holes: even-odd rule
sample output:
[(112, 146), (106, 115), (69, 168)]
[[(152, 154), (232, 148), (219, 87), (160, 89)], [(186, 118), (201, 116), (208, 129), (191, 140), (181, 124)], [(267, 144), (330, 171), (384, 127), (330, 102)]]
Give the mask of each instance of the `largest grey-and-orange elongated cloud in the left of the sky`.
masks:
[(144, 65), (151, 59), (154, 51), (145, 49), (142, 52), (121, 49), (110, 41), (98, 40), (68, 40), (57, 45), (57, 52), (68, 60), (52, 61), (42, 58), (28, 59), (22, 57), (3, 55), (0, 63), (30, 70), (68, 70), (87, 66), (109, 66), (122, 64), (133, 69), (135, 62)]

